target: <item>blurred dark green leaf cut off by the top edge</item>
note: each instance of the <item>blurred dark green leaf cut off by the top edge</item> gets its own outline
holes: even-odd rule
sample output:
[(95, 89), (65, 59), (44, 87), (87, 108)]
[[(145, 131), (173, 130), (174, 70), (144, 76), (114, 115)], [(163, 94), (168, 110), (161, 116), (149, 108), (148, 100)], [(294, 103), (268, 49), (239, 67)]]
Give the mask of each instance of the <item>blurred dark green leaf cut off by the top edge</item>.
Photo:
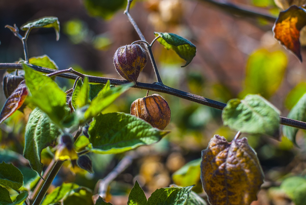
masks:
[(117, 10), (125, 8), (126, 2), (125, 0), (85, 0), (84, 5), (91, 16), (110, 19)]

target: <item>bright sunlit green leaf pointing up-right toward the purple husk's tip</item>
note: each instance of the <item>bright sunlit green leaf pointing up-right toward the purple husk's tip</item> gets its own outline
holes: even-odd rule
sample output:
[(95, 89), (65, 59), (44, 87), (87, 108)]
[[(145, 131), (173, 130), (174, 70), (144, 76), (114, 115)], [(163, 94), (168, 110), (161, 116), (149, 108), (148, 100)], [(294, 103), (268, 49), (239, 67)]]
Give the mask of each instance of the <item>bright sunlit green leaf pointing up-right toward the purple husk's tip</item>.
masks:
[(110, 81), (107, 81), (98, 95), (92, 99), (86, 110), (85, 119), (90, 119), (98, 115), (103, 109), (112, 104), (122, 93), (128, 90), (133, 83), (110, 88)]

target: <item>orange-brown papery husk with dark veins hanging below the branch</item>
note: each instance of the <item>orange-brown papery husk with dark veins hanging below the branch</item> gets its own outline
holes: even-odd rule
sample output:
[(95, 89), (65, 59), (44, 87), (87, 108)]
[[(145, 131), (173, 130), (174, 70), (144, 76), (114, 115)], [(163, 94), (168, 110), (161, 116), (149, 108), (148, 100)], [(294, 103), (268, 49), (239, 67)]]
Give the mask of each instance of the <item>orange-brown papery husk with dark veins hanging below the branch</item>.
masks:
[(170, 122), (171, 112), (167, 101), (160, 95), (153, 94), (134, 101), (131, 105), (131, 115), (163, 130)]

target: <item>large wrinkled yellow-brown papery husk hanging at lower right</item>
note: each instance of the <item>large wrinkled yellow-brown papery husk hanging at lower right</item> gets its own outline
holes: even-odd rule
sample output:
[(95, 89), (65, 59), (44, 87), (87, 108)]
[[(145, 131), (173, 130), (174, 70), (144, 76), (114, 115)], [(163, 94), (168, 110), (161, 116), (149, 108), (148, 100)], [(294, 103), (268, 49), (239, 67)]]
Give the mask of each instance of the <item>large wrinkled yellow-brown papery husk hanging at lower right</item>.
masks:
[(246, 138), (229, 143), (215, 135), (202, 151), (201, 179), (211, 205), (249, 205), (257, 199), (263, 177)]

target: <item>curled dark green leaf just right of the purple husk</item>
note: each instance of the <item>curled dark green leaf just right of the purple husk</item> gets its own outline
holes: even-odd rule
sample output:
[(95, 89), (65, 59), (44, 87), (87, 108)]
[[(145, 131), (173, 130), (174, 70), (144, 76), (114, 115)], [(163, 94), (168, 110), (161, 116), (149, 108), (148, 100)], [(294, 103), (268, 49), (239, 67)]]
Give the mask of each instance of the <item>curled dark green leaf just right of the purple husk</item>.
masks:
[(161, 37), (157, 39), (160, 44), (168, 50), (174, 50), (177, 55), (186, 61), (186, 64), (182, 67), (187, 66), (196, 55), (196, 46), (185, 38), (174, 33), (154, 32), (154, 34)]

